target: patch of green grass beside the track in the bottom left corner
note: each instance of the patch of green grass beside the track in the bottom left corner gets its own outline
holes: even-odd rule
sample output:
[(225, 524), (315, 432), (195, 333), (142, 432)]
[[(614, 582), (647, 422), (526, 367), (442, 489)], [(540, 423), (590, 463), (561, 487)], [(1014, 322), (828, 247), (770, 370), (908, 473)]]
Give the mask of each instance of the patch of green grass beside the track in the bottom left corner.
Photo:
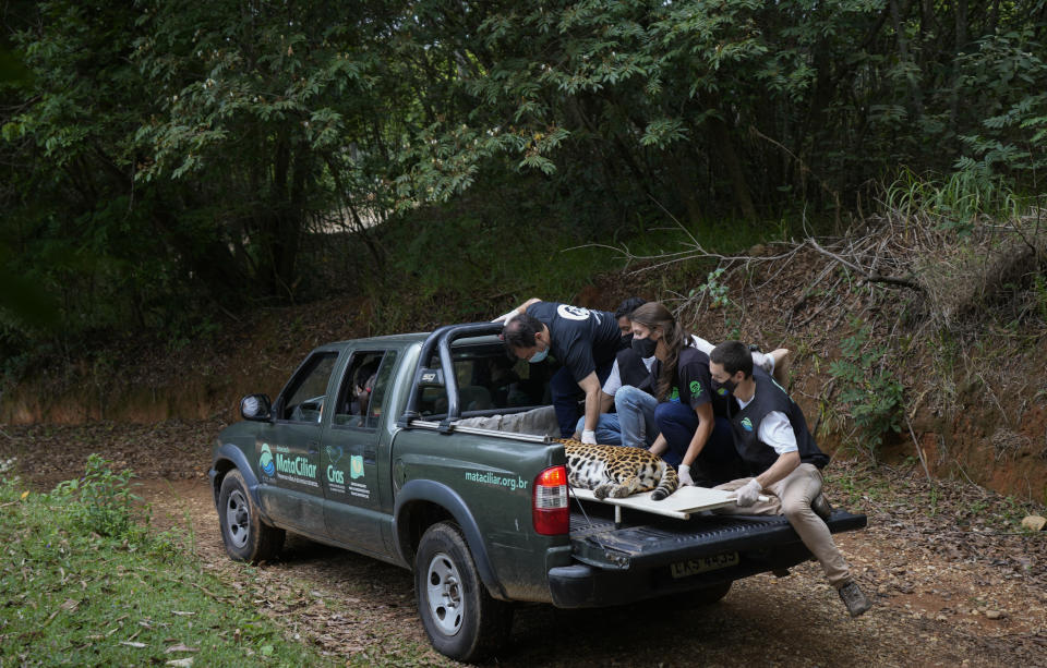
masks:
[(151, 531), (129, 477), (93, 456), (49, 494), (0, 479), (0, 666), (334, 665)]

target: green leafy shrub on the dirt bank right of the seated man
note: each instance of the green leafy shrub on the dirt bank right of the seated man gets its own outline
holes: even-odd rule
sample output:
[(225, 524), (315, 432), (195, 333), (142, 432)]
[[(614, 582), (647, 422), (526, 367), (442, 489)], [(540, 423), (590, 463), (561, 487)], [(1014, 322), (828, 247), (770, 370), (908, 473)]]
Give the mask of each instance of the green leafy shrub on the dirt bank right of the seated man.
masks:
[(869, 344), (868, 326), (856, 318), (851, 326), (855, 332), (841, 342), (841, 357), (829, 365), (829, 375), (839, 384), (857, 446), (875, 461), (884, 435), (902, 428), (904, 387), (884, 365), (888, 349)]

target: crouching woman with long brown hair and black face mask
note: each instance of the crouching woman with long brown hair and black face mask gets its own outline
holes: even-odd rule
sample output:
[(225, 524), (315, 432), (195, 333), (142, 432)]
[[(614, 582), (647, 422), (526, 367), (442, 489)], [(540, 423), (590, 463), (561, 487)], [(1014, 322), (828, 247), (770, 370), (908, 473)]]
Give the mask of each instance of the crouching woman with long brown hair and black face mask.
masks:
[(634, 311), (631, 320), (633, 349), (655, 357), (651, 380), (659, 435), (651, 452), (676, 466), (685, 485), (737, 477), (742, 462), (727, 421), (730, 398), (713, 393), (709, 356), (691, 345), (690, 335), (658, 302)]

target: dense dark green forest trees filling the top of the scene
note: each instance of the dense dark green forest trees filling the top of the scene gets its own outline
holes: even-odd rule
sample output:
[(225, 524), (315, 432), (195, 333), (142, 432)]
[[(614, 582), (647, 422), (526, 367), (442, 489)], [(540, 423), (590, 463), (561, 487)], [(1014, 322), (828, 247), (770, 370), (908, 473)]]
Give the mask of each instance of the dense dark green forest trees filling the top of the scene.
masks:
[(899, 165), (955, 168), (911, 198), (963, 233), (1036, 189), (1047, 23), (896, 4), (16, 2), (0, 353), (121, 328), (178, 348), (222, 308), (329, 290), (335, 233), (358, 292), (404, 270), (393, 255), (433, 276), (418, 236), (491, 247), (424, 211), (470, 191), (503, 204), (483, 234), (540, 211), (535, 239), (585, 244), (654, 202), (696, 228), (838, 216)]

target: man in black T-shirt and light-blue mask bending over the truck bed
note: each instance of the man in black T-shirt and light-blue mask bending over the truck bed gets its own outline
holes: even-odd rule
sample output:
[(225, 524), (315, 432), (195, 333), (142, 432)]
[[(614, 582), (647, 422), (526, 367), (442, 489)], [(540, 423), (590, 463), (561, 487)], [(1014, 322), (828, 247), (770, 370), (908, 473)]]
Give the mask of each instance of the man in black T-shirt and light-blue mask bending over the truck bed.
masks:
[(532, 299), (496, 320), (505, 323), (502, 339), (512, 355), (537, 364), (552, 352), (563, 364), (549, 381), (561, 435), (569, 438), (575, 433), (578, 399), (583, 396), (581, 440), (595, 444), (600, 387), (625, 347), (614, 314)]

